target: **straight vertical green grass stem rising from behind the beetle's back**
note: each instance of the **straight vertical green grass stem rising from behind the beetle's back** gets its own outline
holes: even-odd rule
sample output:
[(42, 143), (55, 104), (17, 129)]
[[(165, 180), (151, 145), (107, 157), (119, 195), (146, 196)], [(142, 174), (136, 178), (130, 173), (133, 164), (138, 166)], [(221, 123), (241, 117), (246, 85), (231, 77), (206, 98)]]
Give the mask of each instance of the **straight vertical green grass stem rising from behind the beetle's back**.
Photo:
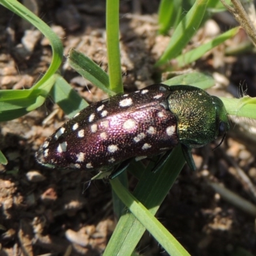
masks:
[(119, 46), (119, 0), (106, 1), (106, 33), (110, 89), (115, 93), (124, 92)]

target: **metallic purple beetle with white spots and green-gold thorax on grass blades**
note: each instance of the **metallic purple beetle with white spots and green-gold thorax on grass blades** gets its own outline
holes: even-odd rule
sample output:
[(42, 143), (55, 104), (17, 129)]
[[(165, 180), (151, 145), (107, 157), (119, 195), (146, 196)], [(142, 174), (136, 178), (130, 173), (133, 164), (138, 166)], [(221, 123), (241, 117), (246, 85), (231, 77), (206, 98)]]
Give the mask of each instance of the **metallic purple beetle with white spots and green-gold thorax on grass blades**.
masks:
[(180, 143), (189, 168), (195, 170), (191, 148), (225, 136), (229, 127), (218, 97), (194, 86), (152, 84), (81, 110), (45, 140), (36, 159), (51, 168), (111, 173), (113, 179), (134, 157), (164, 153), (154, 168), (159, 170)]

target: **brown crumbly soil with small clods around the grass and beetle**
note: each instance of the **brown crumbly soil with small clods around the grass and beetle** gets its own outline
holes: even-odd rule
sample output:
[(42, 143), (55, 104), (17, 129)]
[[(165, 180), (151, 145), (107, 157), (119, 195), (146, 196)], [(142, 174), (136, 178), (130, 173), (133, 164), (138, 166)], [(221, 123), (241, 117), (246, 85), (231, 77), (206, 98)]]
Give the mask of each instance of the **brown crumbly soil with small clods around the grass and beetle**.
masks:
[[(104, 1), (38, 2), (29, 2), (29, 7), (60, 36), (65, 56), (76, 48), (104, 70), (108, 68)], [(170, 40), (170, 36), (157, 35), (158, 1), (140, 4), (122, 1), (120, 6), (125, 92), (158, 82), (160, 72), (154, 63)], [(49, 42), (2, 6), (0, 12), (1, 89), (31, 88), (51, 63)], [(186, 50), (234, 25), (232, 17), (227, 23), (228, 13), (222, 15), (224, 19), (218, 15), (209, 20)], [(186, 68), (212, 74), (216, 86), (211, 93), (232, 93), (236, 97), (239, 84), (245, 84), (247, 93), (255, 97), (255, 55), (225, 55), (228, 47), (241, 42), (248, 42), (242, 29), (232, 40)], [(174, 61), (168, 65), (175, 72), (183, 72)], [(88, 102), (108, 97), (65, 63), (61, 73)], [(88, 185), (93, 176), (90, 172), (50, 170), (35, 161), (38, 147), (65, 120), (63, 111), (49, 99), (26, 116), (0, 123), (0, 149), (8, 159), (6, 166), (0, 165), (1, 256), (102, 255), (115, 229), (108, 182), (97, 180)], [(244, 204), (243, 199), (256, 202), (254, 124), (236, 117), (232, 120), (236, 125), (232, 124), (220, 147), (212, 151), (217, 141), (193, 151), (198, 170), (192, 173), (185, 166), (157, 212), (157, 218), (191, 255), (256, 255), (255, 212), (236, 207), (236, 202)], [(225, 186), (241, 198), (227, 201), (227, 191), (221, 194), (214, 184)], [(168, 255), (147, 233), (138, 252)]]

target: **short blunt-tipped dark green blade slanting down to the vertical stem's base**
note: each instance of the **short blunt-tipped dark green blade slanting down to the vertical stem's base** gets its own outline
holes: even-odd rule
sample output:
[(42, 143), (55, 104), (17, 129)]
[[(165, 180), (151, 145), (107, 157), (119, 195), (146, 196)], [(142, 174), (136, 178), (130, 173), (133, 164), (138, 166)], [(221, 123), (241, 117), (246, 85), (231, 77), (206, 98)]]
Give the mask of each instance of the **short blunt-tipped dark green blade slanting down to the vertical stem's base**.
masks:
[(71, 49), (68, 54), (68, 64), (76, 70), (81, 76), (88, 79), (92, 84), (99, 87), (109, 95), (115, 95), (109, 89), (108, 74), (102, 70), (95, 62), (81, 52)]

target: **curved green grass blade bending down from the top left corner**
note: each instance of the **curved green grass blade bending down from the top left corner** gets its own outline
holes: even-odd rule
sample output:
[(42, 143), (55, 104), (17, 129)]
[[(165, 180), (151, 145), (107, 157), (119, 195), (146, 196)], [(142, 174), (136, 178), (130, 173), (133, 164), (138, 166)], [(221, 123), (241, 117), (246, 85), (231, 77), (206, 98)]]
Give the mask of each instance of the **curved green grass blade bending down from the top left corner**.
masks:
[(33, 26), (38, 28), (41, 33), (47, 37), (51, 43), (52, 47), (52, 62), (50, 67), (48, 68), (47, 72), (44, 76), (31, 88), (31, 90), (35, 90), (40, 88), (44, 83), (47, 82), (49, 77), (51, 77), (56, 70), (60, 67), (62, 58), (63, 58), (63, 47), (60, 38), (52, 31), (47, 24), (45, 24), (40, 18), (38, 18), (33, 12), (28, 10), (25, 6), (20, 4), (18, 1), (15, 0), (0, 0), (0, 4), (4, 7), (11, 10), (13, 13), (22, 17), (22, 19), (27, 20)]

